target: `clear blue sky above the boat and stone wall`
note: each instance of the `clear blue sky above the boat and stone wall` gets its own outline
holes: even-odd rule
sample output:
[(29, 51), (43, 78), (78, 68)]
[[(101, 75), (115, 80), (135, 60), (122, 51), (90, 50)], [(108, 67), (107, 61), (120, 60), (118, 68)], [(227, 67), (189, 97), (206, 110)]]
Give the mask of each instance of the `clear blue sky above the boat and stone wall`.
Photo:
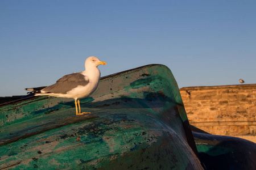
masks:
[(179, 87), (256, 83), (256, 1), (0, 0), (0, 96), (160, 63)]

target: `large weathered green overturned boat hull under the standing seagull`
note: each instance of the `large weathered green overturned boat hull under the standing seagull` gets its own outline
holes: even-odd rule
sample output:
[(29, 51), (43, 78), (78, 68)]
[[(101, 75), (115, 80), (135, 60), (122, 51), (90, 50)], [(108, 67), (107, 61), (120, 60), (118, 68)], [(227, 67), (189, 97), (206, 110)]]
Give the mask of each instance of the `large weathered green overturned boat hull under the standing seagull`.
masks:
[(203, 169), (168, 67), (106, 76), (80, 102), (90, 114), (57, 97), (2, 105), (0, 169)]

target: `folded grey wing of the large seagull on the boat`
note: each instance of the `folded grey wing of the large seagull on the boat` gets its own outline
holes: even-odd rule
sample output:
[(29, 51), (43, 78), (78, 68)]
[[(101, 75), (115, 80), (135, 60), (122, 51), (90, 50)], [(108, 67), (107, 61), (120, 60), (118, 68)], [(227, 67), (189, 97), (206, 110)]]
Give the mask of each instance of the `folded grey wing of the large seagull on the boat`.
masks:
[(73, 73), (64, 75), (62, 78), (56, 81), (55, 84), (47, 86), (42, 91), (44, 93), (55, 93), (55, 94), (67, 94), (68, 91), (71, 91), (77, 86), (86, 86), (89, 83), (89, 80), (85, 78), (84, 75), (80, 73)]

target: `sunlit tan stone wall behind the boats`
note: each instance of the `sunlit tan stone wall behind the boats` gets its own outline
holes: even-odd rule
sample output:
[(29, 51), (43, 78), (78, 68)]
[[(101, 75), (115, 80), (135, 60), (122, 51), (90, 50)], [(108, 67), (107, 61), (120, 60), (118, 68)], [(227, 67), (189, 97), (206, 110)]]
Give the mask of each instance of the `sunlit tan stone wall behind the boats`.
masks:
[(217, 135), (256, 134), (256, 84), (180, 88), (189, 123)]

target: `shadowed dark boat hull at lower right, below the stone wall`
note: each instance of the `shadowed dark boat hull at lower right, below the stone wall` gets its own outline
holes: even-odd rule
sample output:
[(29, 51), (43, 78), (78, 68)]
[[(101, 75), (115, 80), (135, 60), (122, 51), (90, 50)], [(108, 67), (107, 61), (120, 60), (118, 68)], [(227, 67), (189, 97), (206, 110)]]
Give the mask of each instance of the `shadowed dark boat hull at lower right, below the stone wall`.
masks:
[(207, 169), (256, 169), (256, 143), (193, 132), (199, 158)]

